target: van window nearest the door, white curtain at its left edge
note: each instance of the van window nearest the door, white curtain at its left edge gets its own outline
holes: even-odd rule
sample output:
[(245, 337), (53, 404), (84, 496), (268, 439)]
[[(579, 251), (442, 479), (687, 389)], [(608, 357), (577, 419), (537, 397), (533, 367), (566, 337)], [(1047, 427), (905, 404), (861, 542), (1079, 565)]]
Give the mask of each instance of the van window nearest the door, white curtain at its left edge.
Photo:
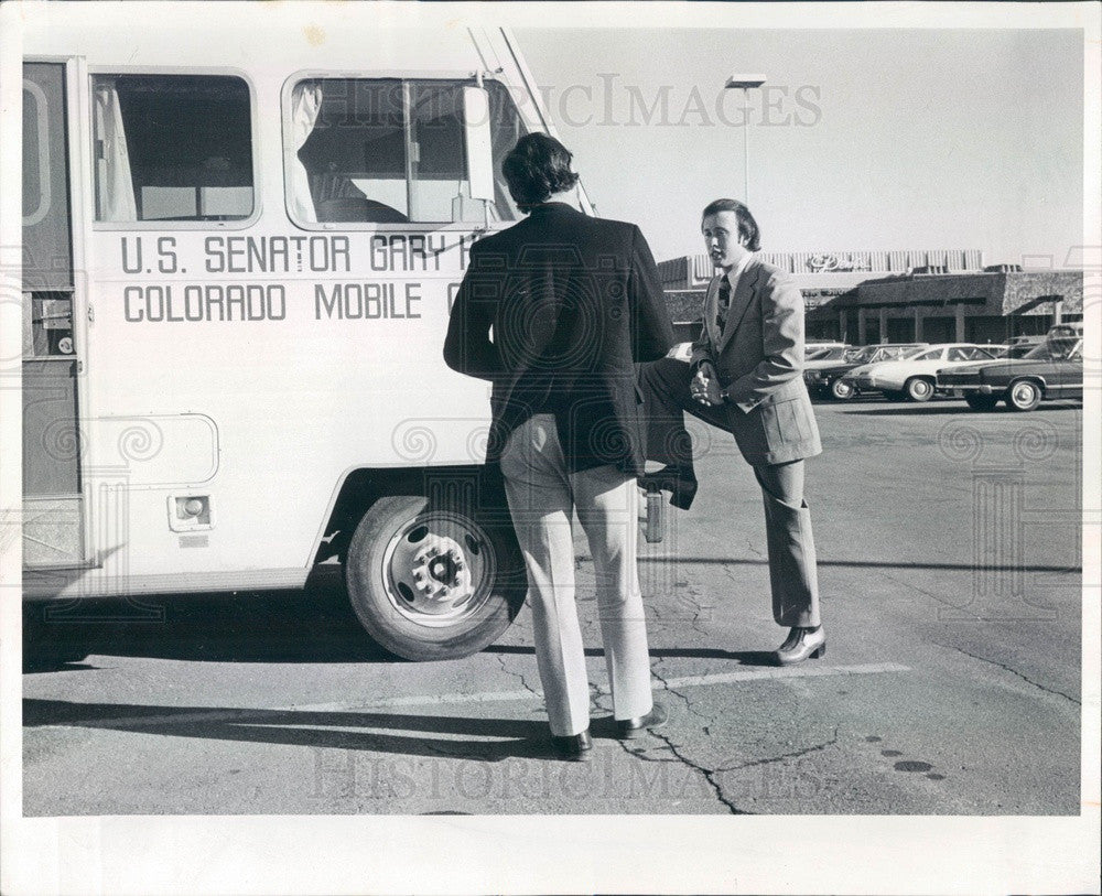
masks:
[(226, 75), (93, 78), (96, 220), (252, 214), (249, 87)]

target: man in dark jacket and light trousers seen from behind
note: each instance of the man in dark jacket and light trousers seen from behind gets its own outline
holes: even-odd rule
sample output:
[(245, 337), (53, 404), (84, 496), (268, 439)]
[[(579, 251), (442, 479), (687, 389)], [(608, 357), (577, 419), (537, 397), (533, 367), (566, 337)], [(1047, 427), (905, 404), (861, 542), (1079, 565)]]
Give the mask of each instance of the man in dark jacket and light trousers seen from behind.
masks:
[(552, 746), (582, 759), (590, 686), (574, 604), (574, 509), (593, 554), (619, 736), (666, 721), (651, 695), (636, 570), (645, 432), (634, 363), (662, 357), (673, 327), (639, 229), (551, 201), (577, 182), (571, 158), (542, 133), (506, 158), (509, 191), (528, 217), (472, 247), (444, 360), (494, 384), (487, 462), (500, 464), (525, 554)]

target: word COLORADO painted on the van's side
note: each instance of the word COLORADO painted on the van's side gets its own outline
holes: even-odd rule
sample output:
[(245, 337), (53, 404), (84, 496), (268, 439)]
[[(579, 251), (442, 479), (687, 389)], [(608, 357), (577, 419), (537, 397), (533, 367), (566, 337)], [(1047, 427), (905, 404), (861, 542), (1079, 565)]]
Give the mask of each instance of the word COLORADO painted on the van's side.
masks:
[(127, 287), (122, 307), (131, 323), (282, 321), (287, 294), (280, 283)]

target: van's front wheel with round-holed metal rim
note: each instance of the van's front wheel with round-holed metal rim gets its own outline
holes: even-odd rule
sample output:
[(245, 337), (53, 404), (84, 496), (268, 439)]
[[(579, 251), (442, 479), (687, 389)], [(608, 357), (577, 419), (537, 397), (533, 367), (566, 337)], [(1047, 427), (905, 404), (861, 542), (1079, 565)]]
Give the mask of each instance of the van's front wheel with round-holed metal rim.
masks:
[(383, 648), (409, 660), (458, 659), (493, 644), (527, 593), (511, 529), (426, 498), (380, 498), (348, 544), (353, 608)]

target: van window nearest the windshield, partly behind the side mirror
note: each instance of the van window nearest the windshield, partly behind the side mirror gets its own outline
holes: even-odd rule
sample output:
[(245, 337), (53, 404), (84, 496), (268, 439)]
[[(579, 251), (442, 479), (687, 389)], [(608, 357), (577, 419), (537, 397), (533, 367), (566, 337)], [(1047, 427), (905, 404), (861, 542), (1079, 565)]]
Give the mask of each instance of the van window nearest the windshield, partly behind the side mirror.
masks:
[[(463, 139), (471, 82), (401, 78), (301, 80), (285, 109), (288, 210), (296, 224), (449, 223), (484, 218), (473, 201)], [(487, 82), (495, 199), (490, 220), (515, 220), (501, 161), (526, 128)]]

